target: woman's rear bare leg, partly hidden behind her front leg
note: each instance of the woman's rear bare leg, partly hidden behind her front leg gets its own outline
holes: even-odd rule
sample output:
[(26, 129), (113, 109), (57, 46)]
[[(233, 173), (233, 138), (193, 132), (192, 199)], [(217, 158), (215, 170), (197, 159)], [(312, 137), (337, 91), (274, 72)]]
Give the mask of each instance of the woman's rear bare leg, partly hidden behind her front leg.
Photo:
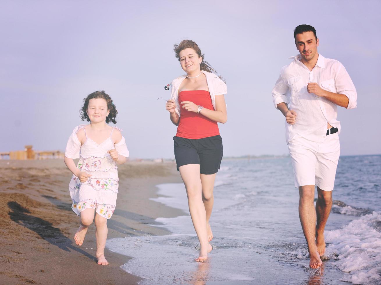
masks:
[(208, 240), (213, 239), (213, 233), (210, 228), (209, 219), (213, 209), (214, 197), (213, 197), (213, 188), (214, 182), (216, 179), (216, 174), (200, 174), (201, 184), (202, 184), (202, 201), (204, 203), (205, 212), (207, 216), (207, 234)]

